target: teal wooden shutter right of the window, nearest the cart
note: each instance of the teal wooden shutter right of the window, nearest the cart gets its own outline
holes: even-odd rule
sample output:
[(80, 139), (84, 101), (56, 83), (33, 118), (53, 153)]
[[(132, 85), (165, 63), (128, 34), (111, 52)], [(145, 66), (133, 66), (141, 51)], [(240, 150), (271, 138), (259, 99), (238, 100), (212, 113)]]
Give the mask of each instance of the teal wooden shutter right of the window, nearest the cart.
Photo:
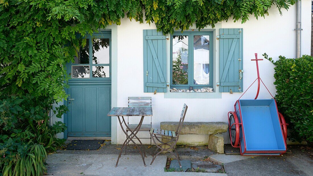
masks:
[(219, 91), (243, 90), (243, 29), (219, 29)]

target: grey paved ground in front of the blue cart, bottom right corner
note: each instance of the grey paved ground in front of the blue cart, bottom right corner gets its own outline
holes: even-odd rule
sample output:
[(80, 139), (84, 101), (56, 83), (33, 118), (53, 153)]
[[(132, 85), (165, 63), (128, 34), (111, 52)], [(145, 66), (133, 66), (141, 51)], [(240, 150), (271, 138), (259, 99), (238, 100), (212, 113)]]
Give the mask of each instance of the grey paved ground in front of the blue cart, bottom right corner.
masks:
[[(247, 156), (249, 158), (224, 164), (229, 176), (312, 176), (313, 148), (309, 146), (288, 146), (290, 154), (281, 156)], [(227, 155), (235, 156), (235, 155)]]

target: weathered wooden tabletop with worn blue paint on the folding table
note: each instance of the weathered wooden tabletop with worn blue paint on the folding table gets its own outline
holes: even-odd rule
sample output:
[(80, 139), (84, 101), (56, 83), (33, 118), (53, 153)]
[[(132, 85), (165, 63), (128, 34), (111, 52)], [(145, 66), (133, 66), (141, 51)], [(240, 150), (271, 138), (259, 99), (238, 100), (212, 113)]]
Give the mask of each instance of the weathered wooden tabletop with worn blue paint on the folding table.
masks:
[(113, 107), (108, 116), (152, 116), (152, 107)]

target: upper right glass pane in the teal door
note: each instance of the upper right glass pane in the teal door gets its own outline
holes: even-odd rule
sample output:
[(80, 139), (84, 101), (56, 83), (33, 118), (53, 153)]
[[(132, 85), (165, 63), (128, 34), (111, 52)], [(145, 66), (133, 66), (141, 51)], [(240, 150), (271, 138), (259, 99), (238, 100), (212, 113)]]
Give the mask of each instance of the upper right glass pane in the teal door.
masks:
[(92, 39), (92, 64), (110, 64), (109, 44), (109, 39)]

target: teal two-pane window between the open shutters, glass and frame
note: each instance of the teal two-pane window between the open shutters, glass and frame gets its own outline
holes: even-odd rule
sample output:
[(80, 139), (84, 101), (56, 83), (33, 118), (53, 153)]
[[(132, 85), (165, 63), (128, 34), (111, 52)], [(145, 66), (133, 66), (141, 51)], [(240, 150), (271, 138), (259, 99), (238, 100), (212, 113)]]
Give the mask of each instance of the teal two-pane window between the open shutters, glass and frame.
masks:
[(171, 87), (212, 87), (213, 32), (177, 32), (171, 38)]

